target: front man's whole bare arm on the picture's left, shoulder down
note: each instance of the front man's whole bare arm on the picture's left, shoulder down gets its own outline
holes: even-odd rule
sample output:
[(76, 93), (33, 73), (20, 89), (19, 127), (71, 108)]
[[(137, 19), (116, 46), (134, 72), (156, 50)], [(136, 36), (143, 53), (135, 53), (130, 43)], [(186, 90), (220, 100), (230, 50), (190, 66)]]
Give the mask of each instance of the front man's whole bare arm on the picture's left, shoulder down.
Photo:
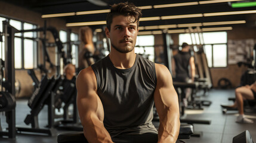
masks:
[(79, 117), (88, 142), (112, 142), (104, 128), (104, 110), (97, 95), (97, 82), (91, 67), (81, 70), (76, 79), (78, 90), (77, 105)]

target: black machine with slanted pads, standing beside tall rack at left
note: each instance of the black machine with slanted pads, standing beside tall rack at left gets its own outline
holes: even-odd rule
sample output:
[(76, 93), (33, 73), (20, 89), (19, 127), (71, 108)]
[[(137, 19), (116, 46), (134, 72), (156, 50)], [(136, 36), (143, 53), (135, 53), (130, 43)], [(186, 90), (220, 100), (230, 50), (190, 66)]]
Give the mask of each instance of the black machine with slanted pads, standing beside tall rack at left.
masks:
[[(29, 99), (28, 105), (31, 108), (30, 114), (27, 114), (24, 123), (26, 125), (31, 124), (30, 128), (17, 127), (18, 133), (42, 133), (49, 136), (55, 136), (56, 130), (53, 128), (54, 125), (54, 96), (55, 90), (60, 86), (61, 76), (56, 79), (52, 76), (48, 79), (47, 76), (42, 77), (38, 88), (33, 92), (32, 97)], [(44, 107), (48, 106), (48, 125), (45, 128), (40, 128), (38, 123), (38, 114)]]

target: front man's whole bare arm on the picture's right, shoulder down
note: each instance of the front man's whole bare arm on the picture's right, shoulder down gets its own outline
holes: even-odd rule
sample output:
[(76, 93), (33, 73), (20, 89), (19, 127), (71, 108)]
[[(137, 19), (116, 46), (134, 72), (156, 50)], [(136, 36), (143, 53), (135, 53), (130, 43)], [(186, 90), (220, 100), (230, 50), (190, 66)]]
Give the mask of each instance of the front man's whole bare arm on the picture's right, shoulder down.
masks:
[(160, 121), (158, 142), (175, 142), (180, 131), (178, 95), (172, 85), (172, 77), (169, 70), (161, 64), (155, 64), (155, 66), (157, 84), (154, 100)]

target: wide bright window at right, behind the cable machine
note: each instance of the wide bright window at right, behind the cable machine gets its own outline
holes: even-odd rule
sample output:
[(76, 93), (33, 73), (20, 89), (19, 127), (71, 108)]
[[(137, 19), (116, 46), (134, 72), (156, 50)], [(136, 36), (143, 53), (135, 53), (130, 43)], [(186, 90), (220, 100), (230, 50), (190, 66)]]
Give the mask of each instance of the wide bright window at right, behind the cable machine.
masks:
[[(227, 66), (227, 32), (186, 33), (179, 35), (179, 45), (202, 44), (209, 67)], [(194, 46), (196, 49), (196, 46)]]

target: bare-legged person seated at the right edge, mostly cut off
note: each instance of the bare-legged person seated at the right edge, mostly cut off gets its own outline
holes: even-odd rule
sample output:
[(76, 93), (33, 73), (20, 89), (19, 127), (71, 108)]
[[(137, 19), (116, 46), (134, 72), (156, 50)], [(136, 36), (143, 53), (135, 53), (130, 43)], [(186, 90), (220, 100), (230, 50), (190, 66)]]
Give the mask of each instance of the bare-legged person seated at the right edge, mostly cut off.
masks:
[(253, 120), (245, 117), (243, 113), (243, 100), (256, 100), (256, 82), (252, 85), (241, 86), (236, 88), (236, 101), (233, 105), (221, 105), (223, 108), (238, 108), (239, 116), (237, 123), (254, 123)]

